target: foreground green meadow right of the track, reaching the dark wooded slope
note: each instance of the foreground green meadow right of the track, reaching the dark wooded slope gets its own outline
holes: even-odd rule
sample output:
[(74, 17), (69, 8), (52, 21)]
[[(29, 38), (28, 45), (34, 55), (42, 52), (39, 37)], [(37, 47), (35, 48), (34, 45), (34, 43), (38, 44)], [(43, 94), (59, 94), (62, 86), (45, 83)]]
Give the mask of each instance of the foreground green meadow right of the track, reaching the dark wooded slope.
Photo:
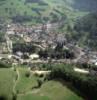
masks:
[(38, 78), (32, 74), (30, 77), (26, 77), (27, 68), (19, 68), (18, 70), (20, 76), (16, 90), (23, 93), (23, 95), (18, 95), (18, 100), (83, 100), (59, 81), (48, 81), (41, 88), (32, 90), (32, 87), (37, 86)]

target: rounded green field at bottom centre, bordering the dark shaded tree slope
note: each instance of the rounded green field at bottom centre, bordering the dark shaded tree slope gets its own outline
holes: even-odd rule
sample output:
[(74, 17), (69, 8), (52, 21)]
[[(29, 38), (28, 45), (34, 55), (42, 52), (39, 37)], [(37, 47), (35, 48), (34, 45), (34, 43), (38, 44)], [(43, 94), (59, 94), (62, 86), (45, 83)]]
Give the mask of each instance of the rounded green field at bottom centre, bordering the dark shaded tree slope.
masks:
[(61, 82), (49, 81), (42, 85), (37, 93), (18, 97), (18, 100), (83, 100)]

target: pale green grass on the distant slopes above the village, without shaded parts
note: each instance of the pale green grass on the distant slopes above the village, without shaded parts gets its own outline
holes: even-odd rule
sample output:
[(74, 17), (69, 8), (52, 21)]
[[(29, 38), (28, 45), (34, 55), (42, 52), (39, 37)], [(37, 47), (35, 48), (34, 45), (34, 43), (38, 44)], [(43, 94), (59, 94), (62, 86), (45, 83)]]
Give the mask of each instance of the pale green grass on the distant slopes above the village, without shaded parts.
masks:
[[(49, 20), (53, 19), (50, 13), (56, 14), (56, 16), (60, 19), (63, 16), (67, 16), (70, 19), (75, 19), (78, 16), (83, 16), (86, 12), (76, 11), (74, 10), (66, 1), (63, 0), (42, 0), (42, 2), (46, 3), (46, 5), (40, 5), (38, 2), (36, 3), (25, 3), (25, 0), (4, 0), (0, 1), (0, 17), (5, 18), (8, 21), (9, 18), (22, 15), (32, 16), (32, 17), (47, 17)], [(37, 11), (33, 11), (33, 9), (38, 9)], [(40, 10), (42, 9), (42, 10)], [(56, 9), (58, 12), (56, 12)], [(32, 19), (29, 23), (37, 23), (37, 19)]]

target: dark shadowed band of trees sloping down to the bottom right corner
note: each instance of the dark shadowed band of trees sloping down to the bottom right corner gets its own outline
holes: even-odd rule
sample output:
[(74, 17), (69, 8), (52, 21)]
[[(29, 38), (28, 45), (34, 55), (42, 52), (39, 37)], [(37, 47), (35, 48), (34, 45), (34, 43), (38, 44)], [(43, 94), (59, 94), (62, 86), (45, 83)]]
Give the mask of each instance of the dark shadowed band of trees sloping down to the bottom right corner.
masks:
[(52, 68), (48, 79), (62, 78), (71, 82), (80, 92), (85, 94), (90, 100), (97, 100), (97, 77), (84, 75), (73, 71), (72, 65), (58, 64)]

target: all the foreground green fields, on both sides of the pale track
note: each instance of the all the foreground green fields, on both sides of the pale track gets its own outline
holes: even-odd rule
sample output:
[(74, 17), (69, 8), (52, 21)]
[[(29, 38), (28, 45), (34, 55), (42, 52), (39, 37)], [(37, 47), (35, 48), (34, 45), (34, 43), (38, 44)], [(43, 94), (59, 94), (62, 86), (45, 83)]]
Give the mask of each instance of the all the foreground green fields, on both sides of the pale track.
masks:
[[(19, 74), (16, 80), (17, 71)], [(17, 71), (0, 69), (0, 97), (12, 100), (13, 91), (16, 91), (17, 100), (83, 100), (60, 81), (47, 81), (40, 88), (34, 88), (39, 77), (32, 73), (26, 77), (27, 68), (17, 68)]]

